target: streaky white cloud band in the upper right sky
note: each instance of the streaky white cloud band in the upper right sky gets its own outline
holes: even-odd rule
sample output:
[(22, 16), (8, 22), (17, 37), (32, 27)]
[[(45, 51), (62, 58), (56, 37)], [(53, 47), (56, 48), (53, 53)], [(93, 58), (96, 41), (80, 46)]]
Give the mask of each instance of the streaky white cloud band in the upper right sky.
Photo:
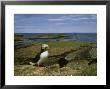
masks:
[(51, 17), (48, 19), (50, 22), (65, 22), (65, 21), (77, 21), (77, 22), (96, 22), (97, 17), (95, 14), (73, 14), (73, 15), (61, 15), (59, 17)]

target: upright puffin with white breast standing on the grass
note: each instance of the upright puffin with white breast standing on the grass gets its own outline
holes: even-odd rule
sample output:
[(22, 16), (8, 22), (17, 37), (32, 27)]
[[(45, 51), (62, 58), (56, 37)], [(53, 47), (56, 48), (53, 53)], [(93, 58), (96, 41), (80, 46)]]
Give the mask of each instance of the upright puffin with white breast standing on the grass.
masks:
[(37, 66), (44, 66), (48, 62), (48, 52), (49, 46), (48, 44), (41, 45), (41, 52), (36, 55)]

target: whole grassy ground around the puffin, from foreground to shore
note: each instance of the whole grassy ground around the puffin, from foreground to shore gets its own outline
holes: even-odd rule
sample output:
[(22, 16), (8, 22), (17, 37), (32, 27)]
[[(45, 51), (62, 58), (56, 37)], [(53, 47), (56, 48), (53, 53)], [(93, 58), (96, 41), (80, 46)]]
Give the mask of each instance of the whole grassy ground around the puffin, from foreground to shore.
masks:
[[(17, 36), (18, 38), (19, 36)], [(15, 37), (16, 39), (16, 37)], [(23, 39), (20, 36), (20, 39)], [(14, 75), (15, 76), (96, 76), (97, 60), (96, 42), (81, 41), (48, 41), (49, 56), (60, 55), (70, 50), (67, 58), (71, 59), (67, 65), (60, 68), (57, 58), (49, 58), (51, 65), (46, 67), (37, 67), (30, 65), (29, 62), (35, 60), (36, 54), (40, 51), (42, 42), (32, 43), (25, 47), (15, 48), (14, 54)], [(91, 48), (92, 47), (92, 48)], [(79, 50), (79, 48), (81, 48)], [(94, 49), (95, 48), (95, 49)], [(52, 61), (54, 61), (52, 63)]]

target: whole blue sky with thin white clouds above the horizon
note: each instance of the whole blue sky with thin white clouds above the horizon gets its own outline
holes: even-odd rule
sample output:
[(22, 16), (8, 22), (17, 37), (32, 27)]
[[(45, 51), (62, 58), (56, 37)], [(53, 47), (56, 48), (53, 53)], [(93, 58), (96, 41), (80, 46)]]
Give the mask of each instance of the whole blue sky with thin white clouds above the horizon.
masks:
[(15, 14), (15, 33), (96, 33), (96, 14)]

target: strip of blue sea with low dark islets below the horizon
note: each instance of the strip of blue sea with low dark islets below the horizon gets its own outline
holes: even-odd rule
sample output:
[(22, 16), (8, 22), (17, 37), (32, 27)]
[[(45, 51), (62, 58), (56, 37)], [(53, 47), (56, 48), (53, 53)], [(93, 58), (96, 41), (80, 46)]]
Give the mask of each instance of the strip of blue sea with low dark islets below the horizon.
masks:
[(97, 33), (15, 33), (15, 35), (23, 37), (22, 41), (15, 42), (15, 46), (48, 41), (97, 42)]

